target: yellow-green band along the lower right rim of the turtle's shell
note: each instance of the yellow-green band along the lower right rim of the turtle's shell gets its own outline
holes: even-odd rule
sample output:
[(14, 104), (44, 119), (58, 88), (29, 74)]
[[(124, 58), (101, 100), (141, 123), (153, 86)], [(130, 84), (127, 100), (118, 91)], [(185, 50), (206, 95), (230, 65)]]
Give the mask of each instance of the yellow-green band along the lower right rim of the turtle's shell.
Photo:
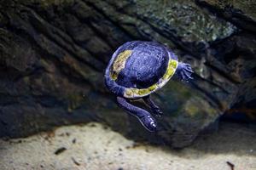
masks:
[(127, 98), (143, 97), (143, 96), (146, 96), (146, 95), (150, 94), (151, 92), (163, 87), (166, 84), (166, 82), (168, 82), (169, 79), (174, 75), (174, 73), (177, 69), (177, 64), (178, 64), (177, 60), (170, 59), (167, 69), (166, 69), (166, 73), (160, 79), (159, 82), (153, 84), (152, 86), (150, 86), (148, 88), (126, 88), (125, 89), (125, 97), (127, 97)]

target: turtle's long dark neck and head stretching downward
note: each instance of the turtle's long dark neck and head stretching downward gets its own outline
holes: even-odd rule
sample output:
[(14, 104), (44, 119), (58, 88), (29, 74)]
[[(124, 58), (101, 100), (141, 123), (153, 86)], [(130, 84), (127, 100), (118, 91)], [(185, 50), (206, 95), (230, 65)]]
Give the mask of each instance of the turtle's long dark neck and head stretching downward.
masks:
[(135, 105), (131, 105), (127, 99), (123, 97), (117, 97), (117, 103), (119, 107), (125, 109), (132, 116), (137, 116), (138, 120), (143, 124), (143, 126), (150, 132), (155, 132), (157, 129), (157, 124), (153, 118), (153, 116)]

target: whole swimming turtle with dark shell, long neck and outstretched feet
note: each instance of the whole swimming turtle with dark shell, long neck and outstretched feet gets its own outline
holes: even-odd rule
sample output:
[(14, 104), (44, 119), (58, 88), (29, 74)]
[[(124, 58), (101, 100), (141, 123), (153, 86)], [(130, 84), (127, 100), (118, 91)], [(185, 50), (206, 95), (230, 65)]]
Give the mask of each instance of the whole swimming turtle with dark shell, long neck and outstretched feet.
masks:
[[(116, 96), (116, 102), (143, 124), (150, 132), (157, 130), (155, 116), (162, 116), (160, 107), (150, 94), (162, 88), (173, 75), (181, 80), (193, 79), (191, 66), (179, 62), (177, 55), (160, 42), (125, 42), (113, 53), (108, 62), (104, 79), (108, 90)], [(151, 111), (146, 111), (132, 101), (143, 99)]]

